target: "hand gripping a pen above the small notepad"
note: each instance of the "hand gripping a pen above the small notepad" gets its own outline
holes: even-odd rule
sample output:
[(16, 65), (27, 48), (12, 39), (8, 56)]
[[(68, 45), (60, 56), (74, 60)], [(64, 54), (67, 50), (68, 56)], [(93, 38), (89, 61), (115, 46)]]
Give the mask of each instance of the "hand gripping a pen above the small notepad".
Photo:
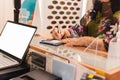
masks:
[(70, 32), (66, 29), (60, 29), (60, 32), (58, 32), (58, 28), (54, 28), (52, 30), (52, 36), (53, 38), (60, 40), (70, 37)]

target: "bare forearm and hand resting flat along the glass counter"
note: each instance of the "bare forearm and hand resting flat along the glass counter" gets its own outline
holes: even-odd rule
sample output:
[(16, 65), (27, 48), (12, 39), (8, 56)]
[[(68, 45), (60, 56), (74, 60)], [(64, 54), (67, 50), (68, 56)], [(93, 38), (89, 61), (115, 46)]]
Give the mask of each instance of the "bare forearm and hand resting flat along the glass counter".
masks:
[(96, 46), (98, 46), (98, 50), (106, 51), (103, 40), (96, 39), (94, 37), (86, 36), (86, 37), (80, 37), (80, 38), (67, 38), (67, 39), (61, 40), (61, 42), (65, 43), (65, 46), (71, 46), (71, 47), (72, 46), (88, 47), (93, 42), (89, 48), (96, 49)]

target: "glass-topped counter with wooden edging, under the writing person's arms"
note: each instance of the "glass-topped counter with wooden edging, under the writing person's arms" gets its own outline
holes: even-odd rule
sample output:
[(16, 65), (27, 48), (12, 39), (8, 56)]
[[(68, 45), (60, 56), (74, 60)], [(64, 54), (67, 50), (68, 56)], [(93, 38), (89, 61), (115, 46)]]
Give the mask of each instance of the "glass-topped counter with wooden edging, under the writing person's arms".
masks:
[(105, 76), (106, 80), (119, 80), (120, 79), (120, 67), (106, 68), (107, 52), (87, 49), (83, 47), (67, 47), (51, 46), (47, 44), (41, 44), (40, 41), (43, 39), (51, 38), (49, 35), (35, 35), (30, 49), (33, 49), (43, 54), (49, 53), (57, 56), (65, 61), (75, 61), (78, 64), (95, 71), (97, 74)]

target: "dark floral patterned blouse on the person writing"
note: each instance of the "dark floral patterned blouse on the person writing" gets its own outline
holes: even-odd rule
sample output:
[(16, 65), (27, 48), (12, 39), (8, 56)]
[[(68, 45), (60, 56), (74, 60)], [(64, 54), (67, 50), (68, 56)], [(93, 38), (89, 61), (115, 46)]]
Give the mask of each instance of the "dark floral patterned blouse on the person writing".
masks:
[[(80, 25), (69, 28), (71, 37), (92, 36), (103, 39), (104, 46), (108, 50), (110, 40), (116, 36), (118, 27), (113, 17), (110, 2), (103, 3), (102, 11), (89, 10), (80, 20)], [(112, 15), (112, 18), (109, 18)], [(93, 18), (94, 17), (94, 18)], [(106, 18), (107, 17), (107, 18)]]

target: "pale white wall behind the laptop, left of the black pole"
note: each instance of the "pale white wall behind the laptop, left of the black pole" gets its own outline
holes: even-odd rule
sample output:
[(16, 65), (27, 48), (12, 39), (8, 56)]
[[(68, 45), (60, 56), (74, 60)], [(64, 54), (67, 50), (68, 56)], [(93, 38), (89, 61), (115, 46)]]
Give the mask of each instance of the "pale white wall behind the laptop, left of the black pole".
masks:
[(13, 21), (13, 0), (0, 0), (0, 32), (7, 20)]

